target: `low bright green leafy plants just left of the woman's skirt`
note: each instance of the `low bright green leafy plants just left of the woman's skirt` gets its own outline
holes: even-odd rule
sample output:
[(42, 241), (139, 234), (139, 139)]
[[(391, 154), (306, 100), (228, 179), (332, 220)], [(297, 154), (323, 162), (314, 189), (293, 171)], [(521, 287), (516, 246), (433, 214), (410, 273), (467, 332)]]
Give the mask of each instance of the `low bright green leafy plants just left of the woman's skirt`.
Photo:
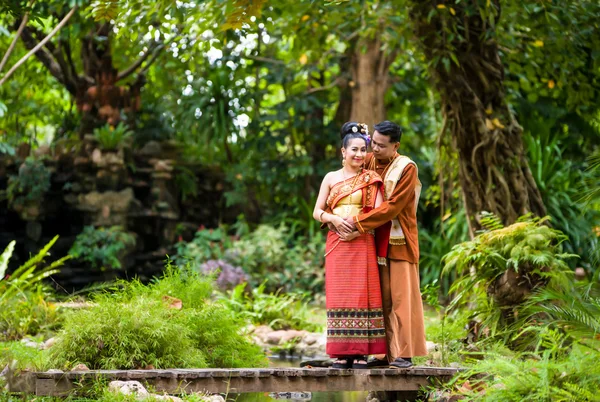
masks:
[(220, 300), (232, 311), (255, 325), (268, 325), (273, 329), (305, 329), (320, 331), (311, 320), (314, 312), (302, 295), (294, 293), (266, 293), (265, 283), (246, 293), (244, 284), (238, 285)]

